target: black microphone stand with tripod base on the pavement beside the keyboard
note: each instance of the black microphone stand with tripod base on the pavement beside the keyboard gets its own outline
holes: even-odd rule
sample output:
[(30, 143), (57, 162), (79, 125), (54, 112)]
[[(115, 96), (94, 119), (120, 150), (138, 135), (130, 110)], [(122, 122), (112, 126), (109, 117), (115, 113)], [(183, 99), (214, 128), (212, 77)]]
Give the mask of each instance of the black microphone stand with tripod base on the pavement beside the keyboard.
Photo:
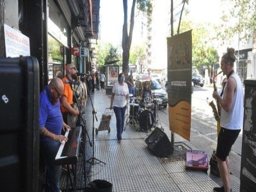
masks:
[[(104, 163), (104, 162), (100, 161), (99, 159), (94, 157), (94, 153), (95, 153), (95, 151), (94, 151), (94, 132), (95, 132), (94, 131), (94, 129), (95, 129), (94, 128), (94, 121), (95, 121), (94, 118), (96, 119), (96, 121), (98, 121), (98, 119), (97, 119), (97, 116), (96, 116), (97, 112), (95, 112), (95, 109), (94, 109), (94, 106), (93, 106), (93, 102), (92, 102), (92, 97), (91, 97), (89, 89), (88, 89), (88, 84), (87, 84), (86, 80), (84, 80), (84, 82), (86, 83), (87, 92), (88, 92), (88, 95), (89, 95), (89, 98), (90, 98), (90, 102), (92, 104), (92, 117), (93, 117), (92, 118), (92, 157), (90, 159), (88, 159), (87, 161), (85, 161), (85, 163), (90, 162), (92, 160), (90, 162), (90, 164), (91, 165), (95, 165), (95, 164)], [(104, 164), (106, 164), (106, 163), (104, 163)]]

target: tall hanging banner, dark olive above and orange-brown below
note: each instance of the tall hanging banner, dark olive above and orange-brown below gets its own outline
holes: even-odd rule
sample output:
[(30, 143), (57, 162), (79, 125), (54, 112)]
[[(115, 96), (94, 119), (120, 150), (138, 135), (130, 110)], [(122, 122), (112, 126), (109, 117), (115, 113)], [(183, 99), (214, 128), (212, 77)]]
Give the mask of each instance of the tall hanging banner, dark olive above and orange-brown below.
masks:
[(192, 33), (167, 38), (170, 131), (190, 140)]

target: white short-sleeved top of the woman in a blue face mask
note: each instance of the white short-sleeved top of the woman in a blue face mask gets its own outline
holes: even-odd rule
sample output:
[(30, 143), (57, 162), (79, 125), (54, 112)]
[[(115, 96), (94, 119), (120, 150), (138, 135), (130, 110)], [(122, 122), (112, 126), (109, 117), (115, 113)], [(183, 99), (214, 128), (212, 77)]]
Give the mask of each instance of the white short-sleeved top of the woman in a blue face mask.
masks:
[(112, 93), (115, 93), (113, 99), (113, 107), (124, 108), (127, 104), (125, 96), (129, 94), (129, 89), (126, 83), (121, 86), (118, 82), (114, 84)]

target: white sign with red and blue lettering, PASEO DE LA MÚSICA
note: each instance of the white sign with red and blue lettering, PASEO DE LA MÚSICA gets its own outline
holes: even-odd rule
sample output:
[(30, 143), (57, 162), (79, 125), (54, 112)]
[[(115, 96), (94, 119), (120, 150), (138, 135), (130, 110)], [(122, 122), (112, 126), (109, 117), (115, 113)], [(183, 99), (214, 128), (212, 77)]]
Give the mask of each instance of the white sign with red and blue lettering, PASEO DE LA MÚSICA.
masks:
[(6, 58), (30, 56), (29, 38), (17, 29), (4, 24), (4, 44)]

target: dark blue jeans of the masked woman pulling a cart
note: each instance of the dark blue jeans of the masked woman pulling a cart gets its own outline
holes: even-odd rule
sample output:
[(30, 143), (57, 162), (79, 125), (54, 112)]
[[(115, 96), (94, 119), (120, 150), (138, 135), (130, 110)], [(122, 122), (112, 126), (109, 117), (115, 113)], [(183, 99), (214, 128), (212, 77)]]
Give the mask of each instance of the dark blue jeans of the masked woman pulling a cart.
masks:
[(125, 110), (126, 106), (124, 108), (118, 108), (114, 107), (114, 112), (116, 115), (116, 138), (117, 140), (122, 140), (122, 133), (124, 130), (124, 122), (125, 122)]

